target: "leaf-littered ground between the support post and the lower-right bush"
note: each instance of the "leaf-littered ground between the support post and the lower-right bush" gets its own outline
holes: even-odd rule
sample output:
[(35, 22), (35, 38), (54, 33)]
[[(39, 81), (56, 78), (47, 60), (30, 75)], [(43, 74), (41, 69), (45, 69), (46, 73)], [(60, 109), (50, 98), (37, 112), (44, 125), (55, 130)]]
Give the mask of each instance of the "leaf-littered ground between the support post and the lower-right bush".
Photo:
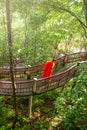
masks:
[(45, 98), (44, 102), (37, 106), (36, 112), (32, 113), (29, 119), (29, 126), (30, 130), (63, 130), (61, 125), (57, 126), (57, 122), (58, 118), (54, 111), (54, 101)]

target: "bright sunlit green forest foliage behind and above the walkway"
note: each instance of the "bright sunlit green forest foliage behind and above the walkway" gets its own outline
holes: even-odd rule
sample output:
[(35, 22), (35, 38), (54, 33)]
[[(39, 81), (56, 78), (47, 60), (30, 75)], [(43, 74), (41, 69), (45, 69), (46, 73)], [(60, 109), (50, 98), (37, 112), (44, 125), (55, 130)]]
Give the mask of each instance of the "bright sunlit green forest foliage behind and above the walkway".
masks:
[[(55, 46), (58, 46), (58, 51), (61, 50), (59, 45), (62, 51), (70, 46), (70, 51), (83, 42), (84, 47), (84, 30), (79, 22), (81, 20), (82, 25), (85, 23), (82, 1), (12, 0), (11, 5), (15, 58), (24, 57), (26, 64), (33, 65), (55, 55)], [(5, 61), (8, 56), (5, 1), (0, 1), (0, 7), (0, 59)], [(63, 41), (66, 43), (63, 44)]]

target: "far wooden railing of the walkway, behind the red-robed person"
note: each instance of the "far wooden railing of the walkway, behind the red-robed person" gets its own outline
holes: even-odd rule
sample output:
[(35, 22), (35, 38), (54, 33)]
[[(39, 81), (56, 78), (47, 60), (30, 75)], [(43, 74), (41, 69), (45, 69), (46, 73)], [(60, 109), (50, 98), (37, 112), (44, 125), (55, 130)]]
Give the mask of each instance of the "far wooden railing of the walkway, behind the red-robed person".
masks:
[[(59, 68), (60, 66), (65, 66), (66, 64), (69, 63), (75, 63), (75, 62), (79, 62), (79, 61), (85, 61), (87, 60), (87, 52), (78, 52), (78, 53), (73, 53), (73, 54), (66, 54), (64, 56), (61, 57), (56, 57), (56, 65), (55, 68)], [(16, 75), (19, 75), (20, 77), (22, 77), (22, 74), (29, 74), (31, 79), (33, 79), (35, 76), (39, 76), (42, 75), (43, 72), (43, 64), (38, 64), (35, 66), (30, 66), (28, 65), (27, 67), (14, 67), (13, 68), (13, 72), (14, 72), (14, 76), (16, 77)], [(10, 75), (10, 69), (9, 67), (0, 67), (0, 77), (1, 76), (9, 76)]]

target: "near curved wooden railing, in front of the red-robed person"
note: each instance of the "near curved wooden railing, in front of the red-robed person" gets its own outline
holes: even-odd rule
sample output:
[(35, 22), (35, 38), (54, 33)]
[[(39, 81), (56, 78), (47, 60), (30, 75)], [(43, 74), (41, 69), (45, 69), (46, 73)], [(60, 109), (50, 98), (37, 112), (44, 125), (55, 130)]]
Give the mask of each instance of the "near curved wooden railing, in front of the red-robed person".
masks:
[[(68, 70), (55, 74), (49, 78), (33, 79), (27, 81), (16, 81), (16, 96), (29, 96), (33, 94), (43, 93), (64, 85), (73, 77), (77, 65), (72, 66)], [(0, 94), (13, 96), (12, 82), (0, 81)]]

